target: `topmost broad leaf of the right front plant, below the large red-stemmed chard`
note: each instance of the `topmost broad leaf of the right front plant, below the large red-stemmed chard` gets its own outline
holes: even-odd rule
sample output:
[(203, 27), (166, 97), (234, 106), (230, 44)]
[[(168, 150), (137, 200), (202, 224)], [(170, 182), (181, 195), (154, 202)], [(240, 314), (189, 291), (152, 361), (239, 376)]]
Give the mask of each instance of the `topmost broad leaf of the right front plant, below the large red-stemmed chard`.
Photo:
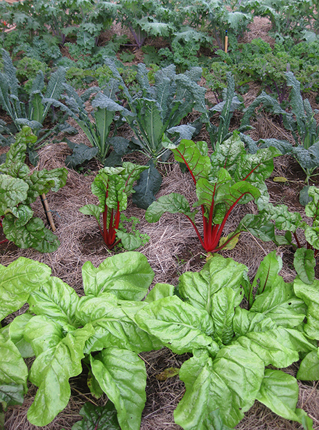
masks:
[(225, 286), (240, 289), (247, 267), (232, 258), (215, 254), (200, 272), (186, 272), (180, 276), (180, 295), (189, 304), (208, 313), (212, 311), (212, 297)]

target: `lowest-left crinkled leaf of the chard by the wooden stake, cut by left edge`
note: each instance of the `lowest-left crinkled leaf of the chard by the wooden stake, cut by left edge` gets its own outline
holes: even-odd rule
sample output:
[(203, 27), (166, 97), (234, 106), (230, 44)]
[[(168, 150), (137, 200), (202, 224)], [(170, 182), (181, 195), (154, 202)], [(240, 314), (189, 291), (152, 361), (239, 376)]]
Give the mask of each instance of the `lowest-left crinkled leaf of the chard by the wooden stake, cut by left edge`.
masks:
[(17, 206), (28, 195), (28, 184), (22, 179), (12, 178), (7, 174), (0, 175), (0, 216), (6, 209)]

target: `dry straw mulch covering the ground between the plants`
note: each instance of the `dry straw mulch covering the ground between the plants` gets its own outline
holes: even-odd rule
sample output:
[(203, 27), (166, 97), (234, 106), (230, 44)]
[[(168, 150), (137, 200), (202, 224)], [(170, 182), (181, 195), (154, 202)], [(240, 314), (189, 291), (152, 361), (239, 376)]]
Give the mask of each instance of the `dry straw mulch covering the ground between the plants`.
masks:
[[(256, 37), (266, 37), (268, 25), (264, 19), (251, 27), (251, 33)], [(268, 41), (268, 40), (267, 40)], [(252, 92), (257, 92), (257, 88), (251, 88)], [(247, 95), (247, 94), (246, 94)], [(248, 94), (250, 97), (250, 94)], [(236, 119), (234, 119), (236, 122)], [(73, 124), (75, 125), (75, 124)], [(235, 124), (233, 124), (235, 126)], [(254, 138), (277, 137), (282, 138), (286, 133), (280, 124), (271, 121), (267, 116), (256, 119), (256, 128)], [(264, 134), (267, 133), (267, 134)], [(125, 135), (125, 130), (123, 131)], [(205, 138), (200, 135), (200, 138)], [(207, 136), (206, 136), (207, 138)], [(88, 143), (83, 134), (76, 135), (74, 140), (81, 143)], [(290, 140), (291, 136), (286, 135)], [(67, 144), (50, 144), (44, 147), (40, 153), (39, 168), (52, 169), (64, 166), (65, 157), (70, 154)], [(132, 156), (130, 160), (142, 162), (139, 156)], [(138, 161), (137, 161), (138, 160)], [(105, 246), (101, 236), (98, 233), (96, 220), (79, 212), (79, 208), (85, 204), (96, 204), (97, 199), (91, 192), (91, 184), (96, 172), (100, 166), (92, 162), (86, 167), (87, 175), (79, 174), (69, 169), (67, 184), (58, 192), (49, 192), (47, 199), (53, 214), (53, 219), (61, 245), (57, 251), (52, 254), (40, 254), (34, 249), (19, 249), (12, 243), (0, 245), (0, 263), (8, 265), (15, 261), (19, 256), (32, 258), (33, 260), (46, 263), (51, 267), (53, 276), (58, 276), (62, 281), (73, 287), (78, 294), (83, 294), (81, 267), (86, 261), (92, 261), (97, 267), (105, 258), (114, 254)], [(91, 174), (92, 173), (92, 174)], [(180, 192), (181, 194), (196, 200), (193, 189), (193, 183), (188, 174), (180, 171), (180, 167), (175, 163), (160, 165), (162, 174), (162, 188), (157, 195), (167, 195), (170, 192)], [(273, 181), (275, 176), (284, 176), (288, 181), (286, 183), (276, 183)], [(267, 185), (270, 191), (270, 198), (273, 202), (286, 204), (290, 210), (298, 210), (304, 216), (304, 209), (299, 204), (298, 194), (304, 185), (304, 174), (300, 167), (289, 157), (280, 157), (275, 160), (275, 171), (268, 179)], [(193, 203), (191, 201), (191, 203)], [(44, 211), (40, 200), (33, 204), (35, 216), (41, 217), (45, 222)], [(239, 206), (234, 210), (232, 217), (226, 225), (225, 234), (234, 231), (239, 220), (248, 212), (254, 212), (254, 204)], [(137, 251), (142, 252), (150, 263), (155, 272), (156, 282), (178, 284), (178, 277), (186, 271), (201, 270), (205, 264), (205, 253), (200, 247), (196, 233), (193, 231), (188, 220), (182, 215), (165, 214), (161, 217), (160, 222), (148, 224), (144, 219), (145, 211), (136, 208), (130, 201), (125, 212), (126, 216), (136, 216), (140, 220), (138, 226), (141, 233), (149, 235), (150, 240)], [(0, 231), (0, 241), (3, 238)], [(231, 251), (223, 251), (221, 254), (225, 257), (234, 258), (239, 263), (248, 265), (250, 276), (254, 276), (261, 260), (270, 251), (276, 249), (275, 245), (270, 242), (261, 242), (252, 237), (250, 233), (241, 233), (239, 242)], [(122, 252), (121, 249), (117, 249)], [(284, 268), (281, 275), (285, 281), (292, 281), (295, 277), (293, 270), (292, 250), (288, 247), (280, 247), (277, 252), (282, 255)], [(316, 276), (318, 278), (318, 274)], [(4, 324), (10, 322), (7, 318)], [(178, 376), (168, 378), (164, 381), (157, 379), (157, 375), (168, 367), (180, 367), (187, 359), (187, 356), (178, 356), (173, 354), (169, 349), (162, 349), (158, 352), (149, 352), (141, 354), (146, 363), (148, 374), (146, 393), (147, 400), (141, 421), (141, 430), (178, 430), (180, 426), (173, 421), (173, 411), (180, 399), (184, 395), (184, 384), (178, 379)], [(295, 374), (296, 368), (292, 365), (287, 372)], [(80, 419), (78, 412), (83, 404), (87, 401), (99, 406), (107, 402), (107, 397), (103, 396), (98, 401), (92, 397), (87, 388), (85, 378), (76, 377), (70, 380), (72, 396), (67, 406), (55, 420), (46, 427), (45, 430), (70, 430), (74, 422)], [(26, 418), (28, 407), (33, 402), (36, 388), (30, 387), (26, 395), (25, 402), (22, 406), (8, 408), (6, 413), (6, 430), (35, 430)], [(300, 399), (298, 407), (304, 408), (309, 416), (313, 419), (314, 429), (319, 429), (319, 390), (315, 383), (309, 385), (300, 383)], [(284, 418), (273, 414), (266, 406), (255, 402), (255, 405), (245, 414), (245, 418), (236, 427), (239, 430), (299, 430), (302, 426), (297, 422), (289, 422)]]

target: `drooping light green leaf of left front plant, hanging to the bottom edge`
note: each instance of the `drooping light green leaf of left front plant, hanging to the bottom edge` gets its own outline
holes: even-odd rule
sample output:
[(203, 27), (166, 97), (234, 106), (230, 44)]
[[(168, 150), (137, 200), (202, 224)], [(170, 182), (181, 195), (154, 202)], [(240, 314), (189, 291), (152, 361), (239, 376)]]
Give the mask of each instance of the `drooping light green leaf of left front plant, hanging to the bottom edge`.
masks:
[(94, 377), (117, 409), (121, 430), (139, 430), (146, 402), (144, 361), (134, 352), (114, 347), (90, 356), (90, 362)]

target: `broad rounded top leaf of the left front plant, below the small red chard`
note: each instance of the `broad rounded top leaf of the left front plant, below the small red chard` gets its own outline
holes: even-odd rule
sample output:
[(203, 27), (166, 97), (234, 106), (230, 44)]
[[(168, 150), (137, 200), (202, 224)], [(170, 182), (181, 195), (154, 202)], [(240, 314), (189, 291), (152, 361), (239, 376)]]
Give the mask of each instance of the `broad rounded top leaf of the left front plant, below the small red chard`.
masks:
[(82, 274), (86, 295), (112, 292), (119, 299), (137, 301), (146, 295), (154, 277), (147, 258), (134, 251), (108, 257), (98, 268), (87, 261)]

